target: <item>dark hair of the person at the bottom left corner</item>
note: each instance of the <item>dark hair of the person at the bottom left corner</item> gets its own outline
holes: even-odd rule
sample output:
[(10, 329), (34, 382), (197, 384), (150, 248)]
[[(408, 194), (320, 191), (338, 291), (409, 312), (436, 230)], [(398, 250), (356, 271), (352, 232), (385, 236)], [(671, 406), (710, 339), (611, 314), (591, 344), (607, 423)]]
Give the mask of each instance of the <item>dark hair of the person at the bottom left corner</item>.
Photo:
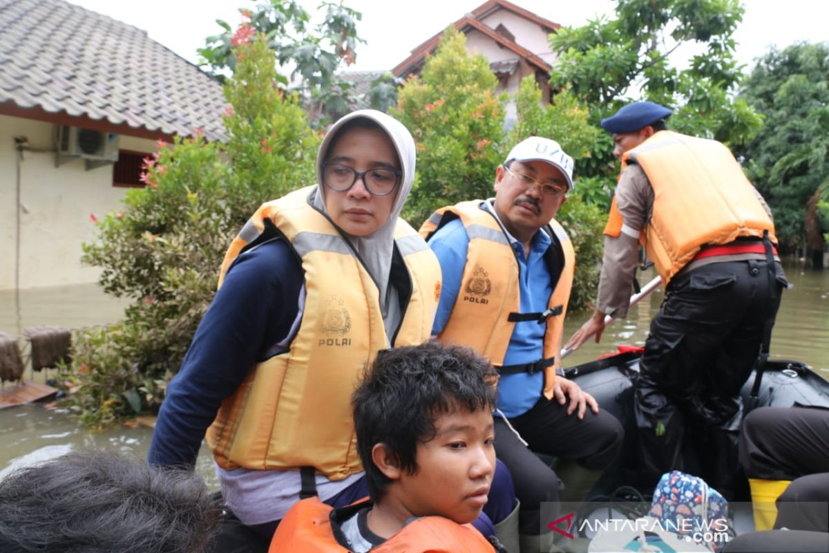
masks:
[(201, 553), (221, 521), (200, 476), (77, 451), (0, 480), (0, 551)]

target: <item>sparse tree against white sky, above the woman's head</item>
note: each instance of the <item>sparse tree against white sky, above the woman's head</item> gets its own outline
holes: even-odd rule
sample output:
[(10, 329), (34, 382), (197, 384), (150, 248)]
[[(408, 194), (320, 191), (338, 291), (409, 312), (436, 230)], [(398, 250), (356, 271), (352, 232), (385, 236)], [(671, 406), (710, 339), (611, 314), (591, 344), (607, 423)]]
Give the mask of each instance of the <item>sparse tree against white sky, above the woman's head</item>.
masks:
[[(298, 0), (268, 0), (240, 12), (248, 19), (251, 32), (266, 36), (279, 68), (290, 70), (290, 79), (279, 75), (279, 82), (298, 93), (312, 124), (324, 124), (350, 110), (351, 84), (342, 80), (337, 70), (343, 63), (354, 63), (356, 46), (364, 42), (356, 32), (360, 12), (342, 2), (321, 2), (317, 12), (323, 17), (316, 25)], [(233, 48), (239, 37), (227, 22), (216, 23), (224, 32), (209, 36), (199, 54), (203, 65), (222, 78), (222, 70), (235, 70)]]

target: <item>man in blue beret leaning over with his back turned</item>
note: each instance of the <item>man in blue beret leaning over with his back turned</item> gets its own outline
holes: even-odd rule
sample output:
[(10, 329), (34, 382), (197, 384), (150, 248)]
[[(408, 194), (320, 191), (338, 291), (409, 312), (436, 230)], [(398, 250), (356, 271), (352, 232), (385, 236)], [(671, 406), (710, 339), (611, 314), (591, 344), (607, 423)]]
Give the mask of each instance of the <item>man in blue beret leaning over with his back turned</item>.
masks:
[(599, 342), (606, 315), (627, 315), (642, 244), (666, 293), (634, 384), (640, 484), (652, 489), (662, 473), (683, 468), (687, 433), (701, 452), (701, 476), (733, 497), (739, 391), (768, 357), (786, 280), (771, 212), (739, 163), (721, 143), (664, 129), (669, 114), (638, 102), (601, 123), (613, 133), (622, 174), (604, 230), (597, 308), (566, 347), (594, 335)]

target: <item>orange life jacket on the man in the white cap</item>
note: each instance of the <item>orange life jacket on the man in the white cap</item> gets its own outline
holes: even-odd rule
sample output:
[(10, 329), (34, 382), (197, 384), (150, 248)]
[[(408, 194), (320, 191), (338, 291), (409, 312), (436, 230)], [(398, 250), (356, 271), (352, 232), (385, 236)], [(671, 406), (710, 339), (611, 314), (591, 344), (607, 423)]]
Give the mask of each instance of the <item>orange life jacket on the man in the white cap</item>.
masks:
[[(482, 208), (479, 200), (462, 201), (435, 211), (420, 226), (420, 235), (428, 240), (435, 230), (454, 218), (463, 223), (469, 248), (458, 300), (438, 339), (473, 347), (492, 365), (502, 366), (516, 324), (509, 320), (509, 315), (521, 311), (515, 251), (496, 218)], [(541, 232), (547, 232), (554, 243), (558, 242), (564, 255), (560, 278), (553, 283), (553, 293), (547, 302), (548, 309), (555, 314), (545, 321), (544, 357), (552, 359), (561, 352), (575, 252), (570, 237), (558, 222), (550, 221)], [(555, 246), (546, 255), (557, 255)], [(555, 366), (545, 367), (545, 389), (551, 389), (554, 382)]]

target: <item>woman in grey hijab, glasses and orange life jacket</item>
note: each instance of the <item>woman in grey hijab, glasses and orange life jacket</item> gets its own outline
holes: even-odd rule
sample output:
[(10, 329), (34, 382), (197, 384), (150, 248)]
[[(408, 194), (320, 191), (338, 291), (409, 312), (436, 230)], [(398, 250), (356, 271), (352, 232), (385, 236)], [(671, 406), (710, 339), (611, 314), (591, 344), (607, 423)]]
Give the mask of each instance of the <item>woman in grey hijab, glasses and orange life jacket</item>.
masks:
[(351, 391), (378, 351), (429, 339), (440, 292), (434, 254), (399, 217), (414, 181), (402, 124), (348, 114), (317, 173), (233, 241), (148, 454), (192, 466), (207, 431), (225, 502), (263, 536), (301, 491), (334, 507), (367, 495)]

